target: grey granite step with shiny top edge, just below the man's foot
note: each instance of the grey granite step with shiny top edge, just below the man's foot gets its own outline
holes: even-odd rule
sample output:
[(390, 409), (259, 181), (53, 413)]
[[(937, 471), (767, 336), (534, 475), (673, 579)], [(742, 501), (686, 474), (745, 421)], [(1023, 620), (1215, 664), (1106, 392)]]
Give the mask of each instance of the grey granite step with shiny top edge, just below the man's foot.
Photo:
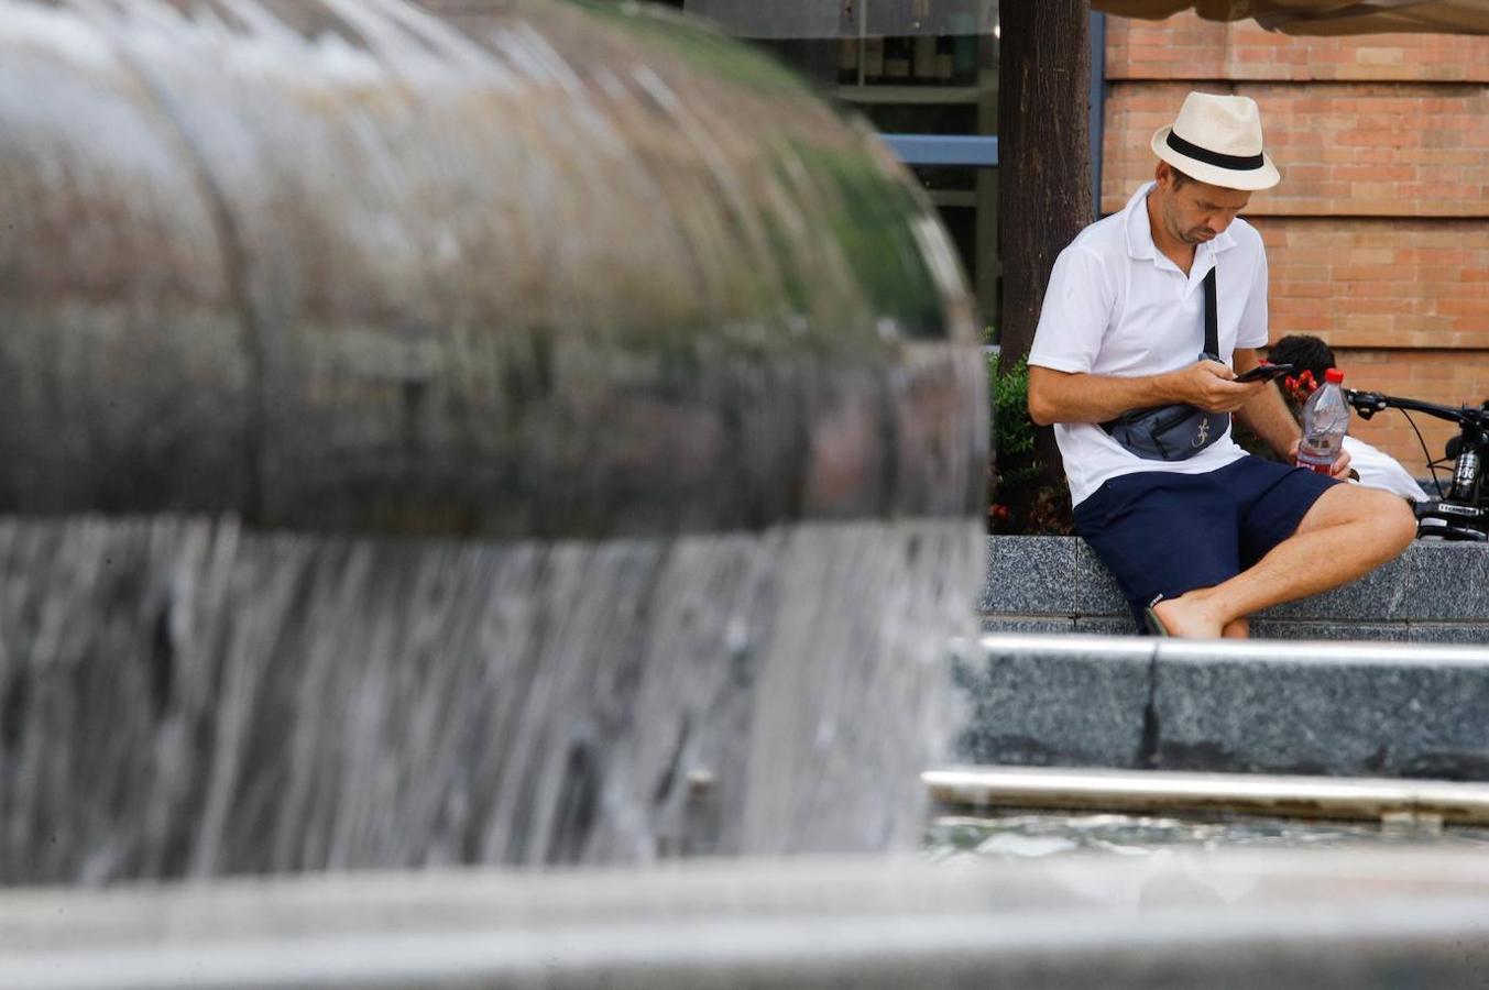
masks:
[(974, 764), (1489, 780), (1489, 648), (990, 634)]

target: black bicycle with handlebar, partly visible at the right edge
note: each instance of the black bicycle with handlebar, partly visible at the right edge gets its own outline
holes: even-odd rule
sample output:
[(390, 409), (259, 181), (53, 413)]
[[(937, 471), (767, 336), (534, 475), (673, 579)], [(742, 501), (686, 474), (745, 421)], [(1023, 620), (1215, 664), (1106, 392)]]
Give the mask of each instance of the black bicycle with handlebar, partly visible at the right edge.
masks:
[[(1485, 459), (1489, 457), (1489, 402), (1455, 408), (1355, 389), (1345, 389), (1345, 397), (1362, 420), (1386, 409), (1401, 409), (1456, 423), (1458, 436), (1447, 441), (1444, 457), (1434, 459), (1416, 423), (1412, 423), (1410, 415), (1406, 418), (1412, 423), (1418, 442), (1422, 444), (1422, 454), (1437, 485), (1435, 499), (1416, 503), (1416, 537), (1489, 542), (1489, 485), (1485, 484)], [(1437, 472), (1449, 466), (1453, 475), (1444, 491)]]

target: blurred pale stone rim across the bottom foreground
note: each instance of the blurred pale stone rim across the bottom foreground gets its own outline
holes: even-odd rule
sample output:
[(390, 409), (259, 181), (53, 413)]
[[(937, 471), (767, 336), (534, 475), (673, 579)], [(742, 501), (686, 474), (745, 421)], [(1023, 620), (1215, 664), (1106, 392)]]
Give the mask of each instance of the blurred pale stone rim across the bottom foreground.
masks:
[(706, 862), (0, 895), (0, 987), (1477, 986), (1489, 863), (1431, 849)]

